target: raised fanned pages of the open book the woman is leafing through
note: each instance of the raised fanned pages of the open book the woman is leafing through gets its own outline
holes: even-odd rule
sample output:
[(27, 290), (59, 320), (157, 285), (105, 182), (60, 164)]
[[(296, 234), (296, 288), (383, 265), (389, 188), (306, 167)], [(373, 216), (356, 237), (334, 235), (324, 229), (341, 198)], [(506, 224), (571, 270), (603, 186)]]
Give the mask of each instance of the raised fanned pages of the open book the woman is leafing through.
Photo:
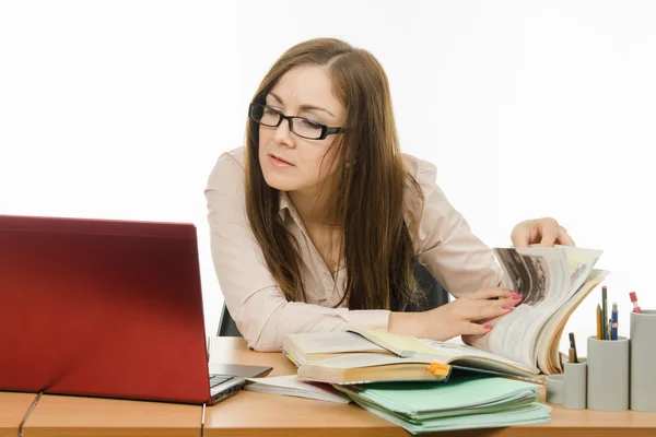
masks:
[(567, 319), (609, 272), (594, 265), (601, 250), (571, 246), (494, 248), (524, 300), (509, 314), (489, 321), (494, 329), (471, 345), (547, 375), (562, 373), (560, 339)]

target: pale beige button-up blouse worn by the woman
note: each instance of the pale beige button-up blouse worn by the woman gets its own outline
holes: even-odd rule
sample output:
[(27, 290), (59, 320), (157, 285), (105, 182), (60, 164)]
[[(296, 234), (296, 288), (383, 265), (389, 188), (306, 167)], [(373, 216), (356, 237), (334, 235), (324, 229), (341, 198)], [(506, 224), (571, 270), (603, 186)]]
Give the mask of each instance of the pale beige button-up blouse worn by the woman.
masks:
[[(285, 192), (280, 214), (300, 241), (307, 303), (288, 302), (270, 274), (253, 235), (245, 206), (246, 149), (223, 153), (204, 191), (211, 231), (211, 250), (225, 304), (237, 328), (256, 351), (280, 351), (288, 333), (333, 331), (347, 323), (387, 330), (388, 310), (332, 308), (344, 293), (345, 270), (333, 277), (309, 239), (294, 204)], [(492, 250), (477, 238), (435, 184), (429, 162), (403, 154), (406, 168), (424, 196), (419, 235), (413, 241), (419, 262), (454, 296), (497, 286), (504, 273)], [(418, 205), (411, 199), (408, 208)], [(419, 208), (419, 206), (418, 206)]]

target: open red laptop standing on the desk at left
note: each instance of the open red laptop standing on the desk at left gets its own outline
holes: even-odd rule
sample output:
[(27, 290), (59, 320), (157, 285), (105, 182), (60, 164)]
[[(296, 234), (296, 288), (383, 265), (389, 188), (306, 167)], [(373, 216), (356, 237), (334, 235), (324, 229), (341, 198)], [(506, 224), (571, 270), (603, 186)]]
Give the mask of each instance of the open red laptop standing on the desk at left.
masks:
[(211, 404), (271, 370), (209, 375), (192, 224), (0, 215), (0, 390)]

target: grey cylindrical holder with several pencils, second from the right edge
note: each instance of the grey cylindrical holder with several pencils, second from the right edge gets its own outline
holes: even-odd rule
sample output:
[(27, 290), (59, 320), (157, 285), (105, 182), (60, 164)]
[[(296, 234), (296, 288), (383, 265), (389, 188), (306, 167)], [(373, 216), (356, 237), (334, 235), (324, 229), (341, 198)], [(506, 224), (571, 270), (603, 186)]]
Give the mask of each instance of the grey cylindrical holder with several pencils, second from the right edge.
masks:
[(629, 339), (587, 341), (587, 405), (597, 411), (629, 410)]

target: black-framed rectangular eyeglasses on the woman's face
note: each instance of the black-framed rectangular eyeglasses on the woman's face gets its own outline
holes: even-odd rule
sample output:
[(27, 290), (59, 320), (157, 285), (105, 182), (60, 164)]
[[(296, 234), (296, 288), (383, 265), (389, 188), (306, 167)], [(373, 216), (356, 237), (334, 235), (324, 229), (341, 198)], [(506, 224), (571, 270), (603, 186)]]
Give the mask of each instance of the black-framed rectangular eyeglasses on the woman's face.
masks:
[(259, 103), (250, 104), (248, 108), (248, 118), (259, 125), (270, 128), (278, 128), (282, 120), (288, 120), (290, 123), (290, 131), (307, 140), (325, 140), (328, 135), (342, 133), (344, 131), (343, 128), (330, 128), (305, 117), (285, 116), (278, 109), (273, 109)]

